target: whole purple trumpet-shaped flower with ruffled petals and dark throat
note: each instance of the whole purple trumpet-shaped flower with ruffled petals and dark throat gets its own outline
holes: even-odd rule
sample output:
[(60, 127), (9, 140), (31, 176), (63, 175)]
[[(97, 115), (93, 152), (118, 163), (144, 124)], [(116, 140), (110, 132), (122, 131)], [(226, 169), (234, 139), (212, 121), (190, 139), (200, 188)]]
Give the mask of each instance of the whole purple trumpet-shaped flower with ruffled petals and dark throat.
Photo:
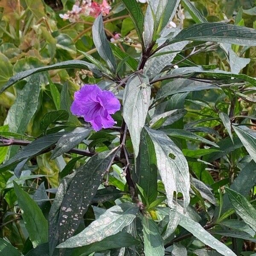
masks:
[(96, 84), (84, 84), (74, 96), (71, 112), (90, 122), (95, 131), (116, 124), (111, 114), (120, 109), (120, 103), (113, 93), (101, 90)]

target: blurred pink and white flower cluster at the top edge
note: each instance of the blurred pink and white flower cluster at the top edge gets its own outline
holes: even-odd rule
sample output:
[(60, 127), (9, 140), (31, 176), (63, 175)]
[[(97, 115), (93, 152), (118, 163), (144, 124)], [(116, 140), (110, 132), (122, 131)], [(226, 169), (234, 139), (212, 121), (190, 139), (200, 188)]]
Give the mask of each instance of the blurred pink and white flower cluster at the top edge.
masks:
[(109, 14), (111, 6), (107, 0), (102, 0), (102, 3), (92, 2), (92, 0), (83, 0), (81, 6), (80, 1), (76, 1), (71, 11), (59, 16), (63, 20), (69, 20), (70, 22), (76, 22), (80, 19), (80, 15), (98, 17), (101, 13), (103, 16)]

